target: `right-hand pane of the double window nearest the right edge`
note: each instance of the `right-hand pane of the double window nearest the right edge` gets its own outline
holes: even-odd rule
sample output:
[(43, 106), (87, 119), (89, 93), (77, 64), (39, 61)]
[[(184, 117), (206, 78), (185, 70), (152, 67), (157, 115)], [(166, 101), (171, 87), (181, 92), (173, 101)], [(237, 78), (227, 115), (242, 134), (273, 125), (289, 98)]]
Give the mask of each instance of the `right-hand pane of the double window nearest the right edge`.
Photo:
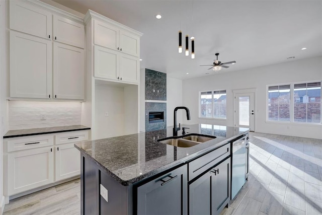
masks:
[(294, 84), (294, 122), (321, 122), (321, 83)]

